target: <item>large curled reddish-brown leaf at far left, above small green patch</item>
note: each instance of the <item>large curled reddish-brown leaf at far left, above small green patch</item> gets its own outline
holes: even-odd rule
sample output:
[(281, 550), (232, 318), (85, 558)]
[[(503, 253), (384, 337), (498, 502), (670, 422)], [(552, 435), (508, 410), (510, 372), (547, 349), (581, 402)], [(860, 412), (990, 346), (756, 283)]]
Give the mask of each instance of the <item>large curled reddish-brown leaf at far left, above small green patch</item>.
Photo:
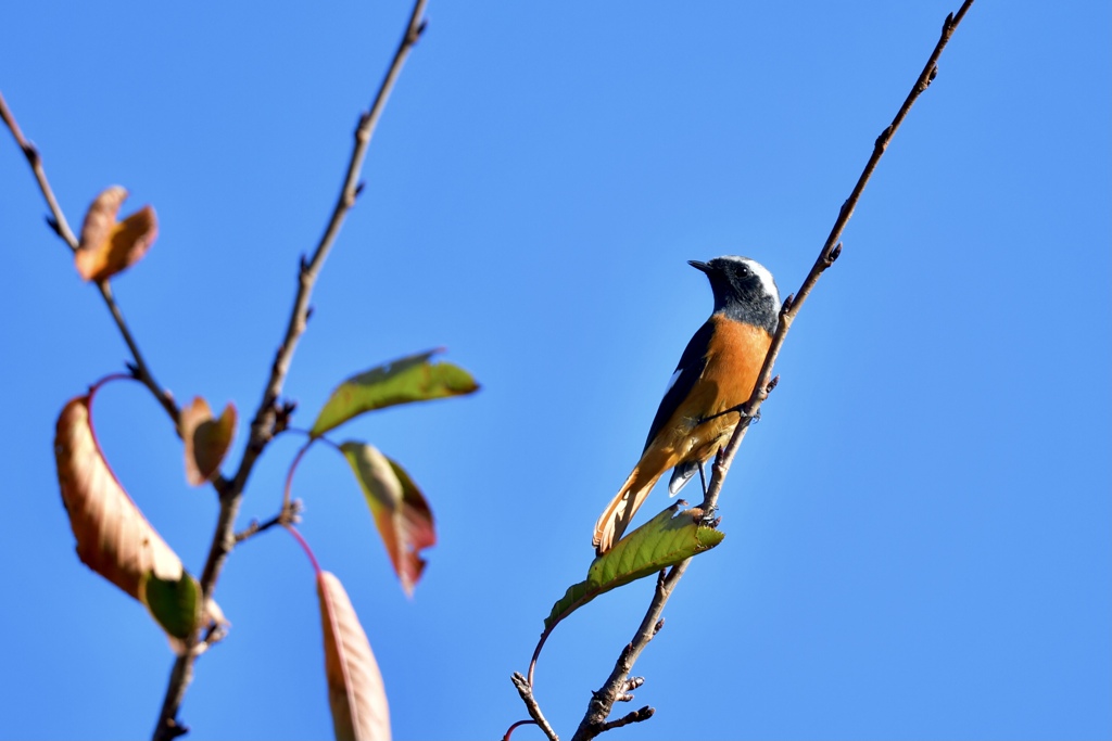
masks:
[(58, 417), (54, 458), (62, 504), (86, 565), (140, 601), (147, 571), (181, 578), (181, 560), (108, 468), (89, 425), (89, 397), (70, 399)]

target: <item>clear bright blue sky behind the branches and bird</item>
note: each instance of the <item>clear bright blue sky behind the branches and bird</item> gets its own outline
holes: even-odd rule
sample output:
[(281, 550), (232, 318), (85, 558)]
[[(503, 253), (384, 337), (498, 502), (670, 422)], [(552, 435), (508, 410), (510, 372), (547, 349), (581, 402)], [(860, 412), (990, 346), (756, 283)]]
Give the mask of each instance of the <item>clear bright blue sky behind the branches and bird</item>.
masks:
[[(439, 346), (484, 387), (336, 435), (401, 461), (431, 502), (440, 543), (411, 601), (340, 457), (314, 450), (296, 480), (397, 738), (494, 738), (525, 717), (509, 674), (584, 577), (595, 518), (709, 312), (685, 261), (748, 254), (795, 290), (957, 4), (431, 0), (286, 387), (307, 427), (342, 378)], [(116, 291), (177, 398), (258, 403), (407, 14), (7, 9), (0, 90), (70, 221), (112, 183), (127, 210), (158, 210)], [(634, 704), (657, 714), (613, 738), (1112, 735), (1109, 16), (974, 6), (788, 337), (726, 483), (725, 541), (637, 663)], [(127, 349), (0, 140), (0, 737), (143, 737), (172, 658), (78, 562), (51, 454), (64, 401)], [(198, 571), (215, 495), (186, 485), (165, 414), (113, 384), (97, 428)], [(241, 525), (276, 511), (299, 444), (268, 449)], [(667, 503), (662, 488), (639, 521)], [(537, 694), (562, 734), (651, 590), (607, 594), (548, 641)], [(189, 738), (329, 735), (296, 543), (244, 544), (217, 597), (234, 627), (198, 664)]]

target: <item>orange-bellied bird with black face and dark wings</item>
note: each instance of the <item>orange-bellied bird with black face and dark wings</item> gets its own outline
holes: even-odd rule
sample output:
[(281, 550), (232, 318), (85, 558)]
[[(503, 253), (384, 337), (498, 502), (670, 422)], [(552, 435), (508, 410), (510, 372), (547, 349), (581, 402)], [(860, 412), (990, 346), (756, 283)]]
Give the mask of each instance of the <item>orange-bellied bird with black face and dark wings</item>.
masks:
[(597, 555), (610, 550), (657, 480), (673, 469), (675, 495), (729, 440), (741, 419), (731, 412), (753, 393), (780, 323), (780, 289), (756, 260), (726, 254), (687, 264), (706, 273), (714, 311), (687, 342), (665, 389), (633, 472), (595, 523)]

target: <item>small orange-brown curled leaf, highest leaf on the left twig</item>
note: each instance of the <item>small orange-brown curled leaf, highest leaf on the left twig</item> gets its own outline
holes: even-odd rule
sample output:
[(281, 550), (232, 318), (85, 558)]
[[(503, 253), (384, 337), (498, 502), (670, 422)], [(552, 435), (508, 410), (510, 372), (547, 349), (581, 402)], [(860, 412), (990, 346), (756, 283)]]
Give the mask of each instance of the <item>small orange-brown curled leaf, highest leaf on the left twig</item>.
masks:
[(128, 191), (112, 186), (93, 200), (85, 214), (81, 242), (73, 259), (85, 280), (103, 281), (138, 262), (158, 237), (155, 209), (145, 206), (117, 221)]

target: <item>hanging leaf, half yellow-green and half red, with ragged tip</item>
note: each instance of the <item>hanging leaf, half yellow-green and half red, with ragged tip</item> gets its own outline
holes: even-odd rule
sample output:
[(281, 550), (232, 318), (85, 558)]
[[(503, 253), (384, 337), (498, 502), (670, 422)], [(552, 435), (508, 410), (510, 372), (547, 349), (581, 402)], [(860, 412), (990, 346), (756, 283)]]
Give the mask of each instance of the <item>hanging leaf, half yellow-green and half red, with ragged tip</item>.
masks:
[(405, 469), (363, 442), (340, 445), (363, 489), (375, 525), (406, 594), (425, 570), (420, 551), (436, 544), (433, 511)]

